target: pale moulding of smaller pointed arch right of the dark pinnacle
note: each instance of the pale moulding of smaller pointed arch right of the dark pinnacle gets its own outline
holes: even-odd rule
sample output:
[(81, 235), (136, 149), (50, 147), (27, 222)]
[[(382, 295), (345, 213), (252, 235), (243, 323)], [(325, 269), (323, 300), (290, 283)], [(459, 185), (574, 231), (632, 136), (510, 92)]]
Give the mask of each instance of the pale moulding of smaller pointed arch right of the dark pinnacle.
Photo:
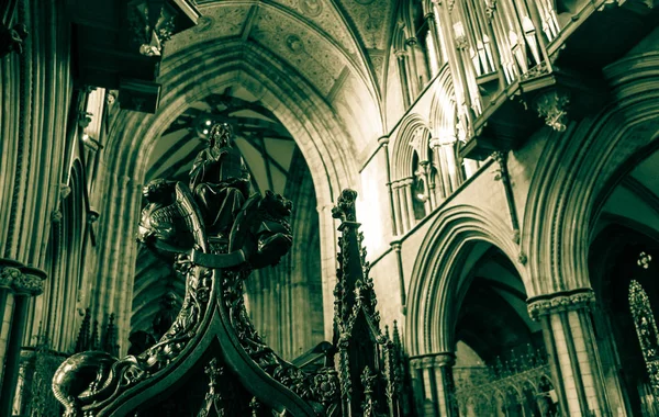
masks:
[[(529, 292), (526, 271), (515, 259), (516, 245), (511, 229), (494, 213), (470, 205), (456, 205), (444, 211), (431, 225), (424, 238), (410, 280), (411, 304), (407, 306), (405, 331), (411, 356), (453, 352), (454, 313), (463, 282), (460, 262), (470, 245), (481, 241), (501, 249), (511, 259)], [(459, 306), (458, 306), (459, 307)]]

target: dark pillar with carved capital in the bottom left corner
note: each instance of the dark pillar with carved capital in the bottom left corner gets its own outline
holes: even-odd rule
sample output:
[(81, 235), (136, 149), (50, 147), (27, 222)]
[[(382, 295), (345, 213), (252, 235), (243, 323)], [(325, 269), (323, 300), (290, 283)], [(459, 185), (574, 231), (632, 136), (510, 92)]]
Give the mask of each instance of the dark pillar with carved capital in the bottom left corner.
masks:
[[(3, 260), (3, 263), (8, 262)], [(18, 263), (18, 266), (16, 266)], [(27, 319), (27, 307), (30, 297), (43, 292), (46, 273), (32, 267), (22, 266), (20, 262), (11, 261), (10, 267), (2, 267), (2, 278), (11, 282), (3, 282), (3, 286), (11, 285), (14, 294), (13, 314), (9, 339), (7, 341), (7, 353), (4, 356), (4, 372), (2, 374), (2, 388), (0, 390), (0, 416), (11, 416), (19, 369), (21, 365), (21, 347), (25, 334)], [(16, 268), (18, 267), (18, 268)], [(7, 293), (7, 290), (4, 290)], [(7, 294), (5, 294), (7, 296)]]

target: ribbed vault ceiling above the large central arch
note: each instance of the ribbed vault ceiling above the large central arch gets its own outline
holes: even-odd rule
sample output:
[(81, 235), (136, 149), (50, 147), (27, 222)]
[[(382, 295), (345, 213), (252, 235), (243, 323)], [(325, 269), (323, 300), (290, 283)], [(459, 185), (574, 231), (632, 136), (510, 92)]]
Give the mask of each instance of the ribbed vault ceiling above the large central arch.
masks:
[[(244, 43), (276, 57), (335, 111), (357, 140), (382, 134), (381, 87), (394, 25), (388, 0), (200, 1), (199, 24), (165, 46), (164, 66)], [(187, 50), (196, 49), (193, 56)], [(280, 65), (279, 65), (280, 64)], [(212, 88), (212, 86), (209, 86)]]

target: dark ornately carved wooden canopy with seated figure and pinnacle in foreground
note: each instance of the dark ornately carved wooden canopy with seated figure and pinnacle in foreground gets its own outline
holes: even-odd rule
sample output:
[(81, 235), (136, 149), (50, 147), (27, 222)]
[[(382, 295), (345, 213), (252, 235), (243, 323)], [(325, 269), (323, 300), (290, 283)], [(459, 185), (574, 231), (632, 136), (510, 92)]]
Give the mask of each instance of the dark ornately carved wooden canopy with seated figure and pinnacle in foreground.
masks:
[[(144, 187), (137, 239), (174, 253), (186, 279), (181, 309), (152, 347), (116, 359), (103, 351), (68, 358), (53, 391), (67, 417), (92, 416), (398, 416), (394, 342), (379, 328), (372, 280), (355, 218), (356, 192), (334, 210), (342, 218), (336, 294), (338, 352), (303, 371), (279, 358), (254, 328), (244, 302), (250, 271), (291, 247), (281, 195), (248, 195), (243, 160), (227, 125), (211, 128), (190, 183)], [(328, 343), (327, 343), (328, 345)]]

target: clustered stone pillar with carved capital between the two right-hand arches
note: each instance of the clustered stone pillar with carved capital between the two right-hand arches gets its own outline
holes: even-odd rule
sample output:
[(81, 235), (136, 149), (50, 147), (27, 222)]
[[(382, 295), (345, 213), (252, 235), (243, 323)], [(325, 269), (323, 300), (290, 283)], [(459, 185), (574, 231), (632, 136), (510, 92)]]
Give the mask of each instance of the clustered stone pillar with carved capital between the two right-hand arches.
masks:
[(593, 336), (590, 289), (534, 297), (528, 314), (540, 323), (563, 415), (611, 416)]

